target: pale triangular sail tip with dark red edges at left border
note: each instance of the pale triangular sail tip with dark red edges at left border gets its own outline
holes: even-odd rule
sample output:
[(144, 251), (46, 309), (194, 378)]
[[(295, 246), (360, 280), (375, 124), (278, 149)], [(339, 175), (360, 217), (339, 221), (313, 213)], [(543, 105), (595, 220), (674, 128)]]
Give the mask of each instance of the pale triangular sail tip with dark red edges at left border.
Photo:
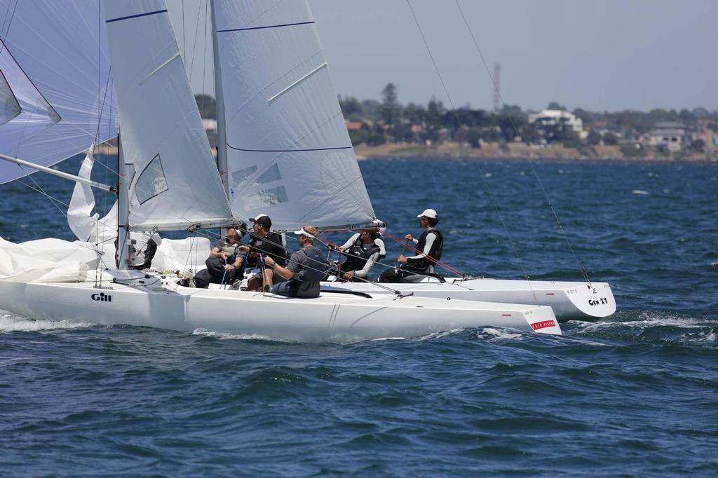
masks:
[(12, 149), (17, 148), (24, 141), (42, 133), (50, 126), (60, 121), (60, 116), (42, 97), (35, 88), (20, 65), (17, 64), (10, 48), (0, 40), (0, 73), (1, 86), (7, 85), (8, 103), (3, 101), (4, 111), (14, 114), (12, 103), (17, 104), (17, 114), (0, 126), (0, 144)]

